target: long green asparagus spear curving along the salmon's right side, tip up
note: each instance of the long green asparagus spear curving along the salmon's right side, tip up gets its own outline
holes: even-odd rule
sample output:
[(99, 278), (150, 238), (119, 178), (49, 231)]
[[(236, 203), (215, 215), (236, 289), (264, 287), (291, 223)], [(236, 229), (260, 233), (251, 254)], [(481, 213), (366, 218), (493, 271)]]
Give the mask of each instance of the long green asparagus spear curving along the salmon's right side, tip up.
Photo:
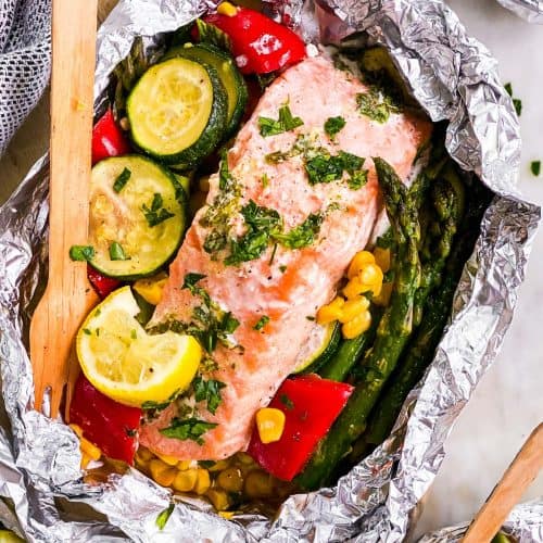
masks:
[(318, 444), (305, 470), (298, 477), (298, 483), (308, 490), (329, 482), (351, 443), (364, 432), (367, 417), (412, 332), (413, 304), (420, 283), (418, 213), (392, 167), (382, 159), (376, 157), (374, 163), (396, 238), (394, 291), (379, 323), (374, 346), (364, 357), (365, 375), (328, 434)]

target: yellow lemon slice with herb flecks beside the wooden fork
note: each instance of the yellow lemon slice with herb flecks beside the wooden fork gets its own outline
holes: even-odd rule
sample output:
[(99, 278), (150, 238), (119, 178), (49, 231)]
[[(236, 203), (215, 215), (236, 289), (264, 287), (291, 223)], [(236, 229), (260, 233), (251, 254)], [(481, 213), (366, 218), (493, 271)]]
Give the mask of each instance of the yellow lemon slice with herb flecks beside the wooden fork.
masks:
[(131, 406), (167, 402), (185, 390), (202, 357), (192, 336), (150, 336), (136, 320), (130, 287), (111, 293), (77, 332), (77, 357), (87, 379), (103, 394)]

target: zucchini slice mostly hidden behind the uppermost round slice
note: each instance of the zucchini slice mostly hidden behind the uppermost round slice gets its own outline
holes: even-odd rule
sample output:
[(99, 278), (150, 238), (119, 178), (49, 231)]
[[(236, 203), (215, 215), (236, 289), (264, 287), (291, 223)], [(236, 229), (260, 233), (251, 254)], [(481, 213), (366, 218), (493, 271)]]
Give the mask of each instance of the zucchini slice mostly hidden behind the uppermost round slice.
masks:
[(174, 47), (166, 52), (163, 60), (175, 59), (176, 56), (206, 63), (217, 71), (228, 97), (225, 138), (230, 137), (239, 126), (249, 96), (245, 80), (236, 66), (233, 59), (211, 43), (199, 43), (198, 46), (185, 43), (185, 46)]

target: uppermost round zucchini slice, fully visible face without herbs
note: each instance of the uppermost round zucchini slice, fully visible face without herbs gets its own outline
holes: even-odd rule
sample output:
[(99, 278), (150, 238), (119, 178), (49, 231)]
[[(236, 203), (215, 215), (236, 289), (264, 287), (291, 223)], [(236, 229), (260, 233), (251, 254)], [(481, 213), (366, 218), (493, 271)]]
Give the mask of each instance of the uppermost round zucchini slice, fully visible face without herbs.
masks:
[(141, 76), (126, 112), (139, 149), (165, 164), (189, 168), (225, 136), (228, 98), (214, 67), (177, 56)]

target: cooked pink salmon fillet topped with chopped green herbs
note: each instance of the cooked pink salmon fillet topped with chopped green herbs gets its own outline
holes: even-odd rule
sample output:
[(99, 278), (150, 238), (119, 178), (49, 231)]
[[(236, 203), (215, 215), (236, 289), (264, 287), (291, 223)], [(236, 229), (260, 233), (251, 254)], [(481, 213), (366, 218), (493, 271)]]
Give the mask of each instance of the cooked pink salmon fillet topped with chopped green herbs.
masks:
[[(295, 368), (300, 350), (317, 326), (311, 319), (333, 298), (350, 261), (365, 248), (379, 212), (378, 182), (370, 156), (383, 157), (406, 179), (417, 149), (430, 135), (430, 123), (416, 116), (392, 113), (380, 124), (361, 114), (356, 94), (366, 91), (359, 80), (334, 68), (328, 59), (307, 59), (285, 72), (266, 90), (228, 153), (228, 168), (240, 192), (228, 218), (229, 236), (245, 231), (239, 210), (252, 200), (276, 210), (286, 231), (311, 214), (320, 214), (320, 229), (311, 245), (289, 249), (269, 243), (260, 257), (239, 265), (225, 264), (228, 249), (207, 253), (203, 245), (211, 227), (204, 226), (202, 219), (220, 195), (218, 174), (211, 177), (206, 204), (198, 212), (171, 266), (152, 325), (193, 320), (202, 296), (182, 285), (187, 274), (202, 274), (205, 277), (198, 287), (239, 321), (229, 337), (236, 346), (218, 342), (211, 353), (213, 363), (206, 364), (209, 368), (203, 372), (205, 379), (224, 383), (216, 413), (212, 414), (205, 402), (182, 396), (157, 418), (142, 424), (140, 443), (151, 451), (179, 459), (220, 459), (244, 450), (256, 411), (268, 404)], [(258, 117), (277, 119), (285, 104), (303, 125), (283, 134), (261, 136)], [(332, 141), (324, 125), (333, 116), (342, 116), (345, 126)], [(292, 149), (300, 135), (332, 155), (346, 151), (365, 157), (366, 185), (357, 190), (350, 188), (346, 174), (340, 180), (311, 185), (303, 155), (278, 163), (266, 161), (269, 153)], [(263, 316), (269, 321), (255, 330)], [(187, 417), (190, 408), (195, 408), (191, 415), (194, 418), (217, 425), (203, 433), (201, 443), (160, 432), (175, 417)]]

